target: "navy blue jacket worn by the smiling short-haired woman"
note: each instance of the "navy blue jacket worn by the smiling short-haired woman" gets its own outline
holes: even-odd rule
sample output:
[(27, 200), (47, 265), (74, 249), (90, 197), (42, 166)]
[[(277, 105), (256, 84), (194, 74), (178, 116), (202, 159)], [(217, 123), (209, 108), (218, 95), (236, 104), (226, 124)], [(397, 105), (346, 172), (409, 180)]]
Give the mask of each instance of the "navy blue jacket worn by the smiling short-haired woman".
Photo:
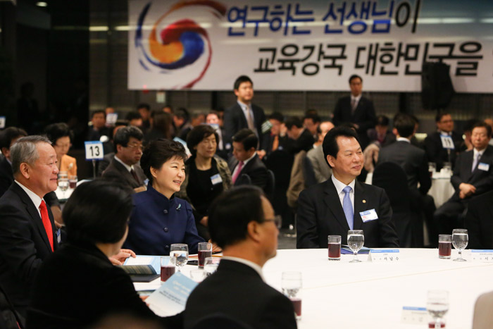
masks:
[(192, 207), (177, 197), (168, 199), (149, 184), (133, 195), (134, 210), (124, 247), (140, 255), (169, 255), (170, 245), (186, 243), (190, 254), (204, 242), (195, 226)]

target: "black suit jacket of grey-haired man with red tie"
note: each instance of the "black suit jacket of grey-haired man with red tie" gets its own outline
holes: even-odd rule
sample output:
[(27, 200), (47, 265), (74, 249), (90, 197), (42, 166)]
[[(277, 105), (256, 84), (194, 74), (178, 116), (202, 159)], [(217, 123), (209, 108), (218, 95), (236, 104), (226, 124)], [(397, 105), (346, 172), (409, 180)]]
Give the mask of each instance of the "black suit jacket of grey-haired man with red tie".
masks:
[[(16, 182), (0, 198), (0, 213), (0, 284), (25, 316), (35, 275), (51, 247), (36, 206)], [(49, 207), (48, 214), (56, 250), (56, 227)]]

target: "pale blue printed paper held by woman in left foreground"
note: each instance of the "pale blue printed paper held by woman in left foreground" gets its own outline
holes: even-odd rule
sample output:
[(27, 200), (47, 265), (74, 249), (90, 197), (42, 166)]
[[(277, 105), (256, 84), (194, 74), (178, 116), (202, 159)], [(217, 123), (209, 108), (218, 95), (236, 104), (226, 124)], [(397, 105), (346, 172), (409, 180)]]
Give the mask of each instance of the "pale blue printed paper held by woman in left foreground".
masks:
[(153, 292), (146, 303), (158, 316), (174, 316), (185, 310), (187, 299), (196, 285), (194, 280), (177, 272)]

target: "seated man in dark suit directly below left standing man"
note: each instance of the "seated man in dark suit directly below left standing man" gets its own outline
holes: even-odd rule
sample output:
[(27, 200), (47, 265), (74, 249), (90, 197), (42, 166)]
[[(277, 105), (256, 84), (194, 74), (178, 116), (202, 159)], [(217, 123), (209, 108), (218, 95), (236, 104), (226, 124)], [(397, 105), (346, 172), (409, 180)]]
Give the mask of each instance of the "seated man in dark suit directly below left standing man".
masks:
[(239, 130), (233, 136), (233, 157), (230, 159), (228, 166), (232, 173), (233, 185), (248, 184), (248, 175), (251, 184), (265, 190), (267, 187), (268, 172), (267, 167), (256, 154), (256, 145), (258, 138), (253, 131), (249, 129)]

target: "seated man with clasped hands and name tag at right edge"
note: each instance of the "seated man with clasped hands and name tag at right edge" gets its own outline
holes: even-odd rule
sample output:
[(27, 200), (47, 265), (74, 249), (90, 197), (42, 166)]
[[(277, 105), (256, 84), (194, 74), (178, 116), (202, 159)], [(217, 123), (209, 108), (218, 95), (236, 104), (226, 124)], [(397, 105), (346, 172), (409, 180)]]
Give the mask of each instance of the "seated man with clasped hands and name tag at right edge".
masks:
[(450, 179), (456, 192), (435, 211), (439, 234), (451, 234), (454, 228), (463, 227), (469, 201), (493, 189), (493, 147), (488, 145), (491, 137), (489, 125), (483, 122), (474, 125), (471, 135), (474, 149), (458, 155)]

